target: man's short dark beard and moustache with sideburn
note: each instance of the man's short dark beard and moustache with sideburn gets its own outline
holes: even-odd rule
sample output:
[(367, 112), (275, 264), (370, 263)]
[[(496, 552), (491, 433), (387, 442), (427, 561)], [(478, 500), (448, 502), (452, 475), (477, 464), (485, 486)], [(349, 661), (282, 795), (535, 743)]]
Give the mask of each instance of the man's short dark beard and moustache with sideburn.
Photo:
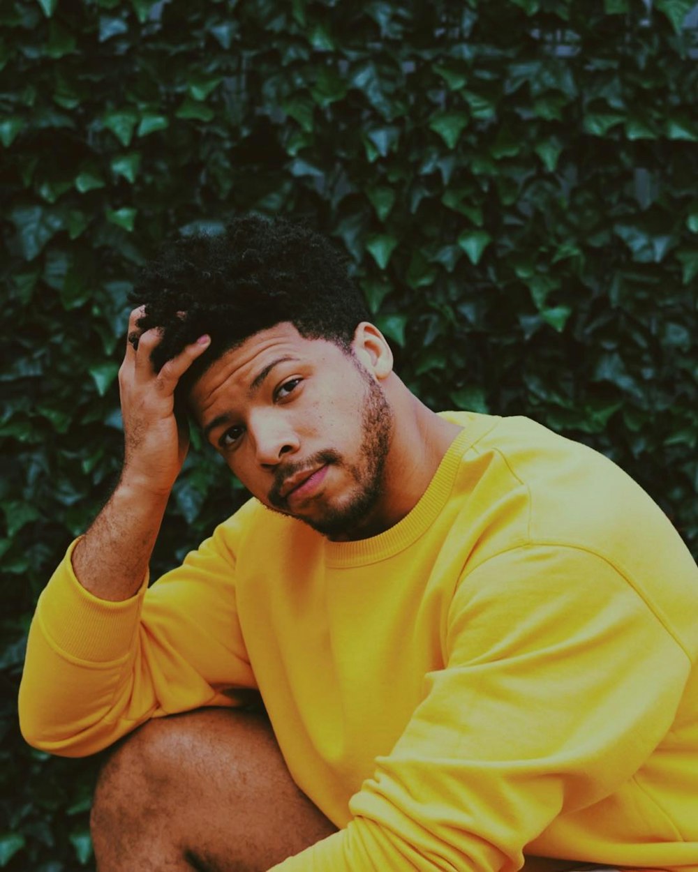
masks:
[[(332, 448), (313, 454), (298, 466), (285, 465), (277, 470), (277, 480), (271, 487), (268, 499), (270, 508), (290, 514), (304, 521), (318, 533), (329, 537), (362, 538), (360, 532), (366, 528), (370, 514), (384, 492), (383, 478), (386, 469), (387, 453), (393, 436), (393, 410), (385, 394), (359, 361), (354, 361), (366, 384), (366, 396), (361, 415), (361, 445), (356, 463), (349, 463), (342, 454)], [(355, 482), (346, 501), (338, 506), (326, 506), (322, 515), (306, 518), (293, 514), (288, 503), (280, 493), (284, 480), (305, 469), (321, 466), (343, 467)]]

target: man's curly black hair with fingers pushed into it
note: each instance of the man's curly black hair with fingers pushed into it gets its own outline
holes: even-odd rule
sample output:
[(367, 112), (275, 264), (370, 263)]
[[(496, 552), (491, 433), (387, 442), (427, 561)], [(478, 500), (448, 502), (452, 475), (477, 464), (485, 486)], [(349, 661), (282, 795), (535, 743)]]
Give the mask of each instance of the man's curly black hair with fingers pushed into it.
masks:
[(183, 381), (191, 385), (225, 351), (290, 321), (306, 338), (324, 338), (349, 351), (368, 319), (346, 260), (310, 228), (282, 218), (248, 215), (221, 235), (195, 234), (167, 242), (141, 270), (129, 295), (144, 306), (141, 331), (158, 327), (155, 371), (185, 345), (208, 333), (209, 349)]

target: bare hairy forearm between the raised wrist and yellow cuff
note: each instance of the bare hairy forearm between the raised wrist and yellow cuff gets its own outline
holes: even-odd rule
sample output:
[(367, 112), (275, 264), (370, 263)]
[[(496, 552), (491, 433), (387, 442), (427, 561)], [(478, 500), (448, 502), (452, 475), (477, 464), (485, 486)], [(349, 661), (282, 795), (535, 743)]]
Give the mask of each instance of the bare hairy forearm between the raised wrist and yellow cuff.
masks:
[(168, 494), (120, 482), (72, 553), (72, 568), (86, 590), (113, 602), (136, 593), (167, 502)]

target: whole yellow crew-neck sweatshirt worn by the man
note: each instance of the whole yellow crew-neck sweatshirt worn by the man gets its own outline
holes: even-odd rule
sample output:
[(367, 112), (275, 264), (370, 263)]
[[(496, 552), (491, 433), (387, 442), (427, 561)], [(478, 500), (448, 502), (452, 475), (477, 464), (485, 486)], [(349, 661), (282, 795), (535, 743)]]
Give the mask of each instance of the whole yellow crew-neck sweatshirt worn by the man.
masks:
[(599, 453), (462, 431), (395, 527), (329, 542), (250, 501), (124, 603), (44, 590), (24, 735), (89, 754), (261, 691), (339, 832), (275, 872), (512, 870), (523, 852), (698, 870), (698, 572)]

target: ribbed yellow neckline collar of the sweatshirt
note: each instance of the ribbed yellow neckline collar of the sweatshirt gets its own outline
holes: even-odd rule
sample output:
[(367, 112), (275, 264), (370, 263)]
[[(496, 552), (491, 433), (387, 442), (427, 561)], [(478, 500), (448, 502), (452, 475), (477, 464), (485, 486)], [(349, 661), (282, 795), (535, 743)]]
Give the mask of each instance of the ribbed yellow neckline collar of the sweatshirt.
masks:
[[(415, 542), (436, 520), (453, 490), (462, 455), (482, 433), (483, 418), (492, 426), (496, 419), (473, 412), (440, 412), (462, 426), (414, 508), (393, 527), (358, 542), (325, 542), (325, 565), (349, 568), (376, 563), (398, 554)], [(489, 429), (489, 427), (488, 427)]]

